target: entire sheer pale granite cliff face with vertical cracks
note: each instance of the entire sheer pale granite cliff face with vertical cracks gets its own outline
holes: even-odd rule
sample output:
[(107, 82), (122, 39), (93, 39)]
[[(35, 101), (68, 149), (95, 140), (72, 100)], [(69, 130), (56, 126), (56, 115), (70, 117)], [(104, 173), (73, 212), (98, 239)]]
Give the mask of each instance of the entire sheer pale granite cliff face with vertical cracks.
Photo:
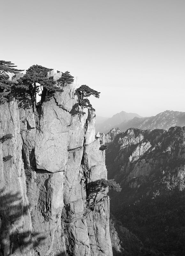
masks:
[(78, 102), (76, 88), (74, 83), (55, 93), (39, 115), (29, 100), (0, 106), (0, 137), (13, 136), (0, 143), (4, 255), (112, 256), (107, 189), (96, 204), (95, 193), (89, 198), (89, 183), (107, 177), (105, 153), (95, 139), (95, 116), (89, 112), (85, 123), (70, 113)]

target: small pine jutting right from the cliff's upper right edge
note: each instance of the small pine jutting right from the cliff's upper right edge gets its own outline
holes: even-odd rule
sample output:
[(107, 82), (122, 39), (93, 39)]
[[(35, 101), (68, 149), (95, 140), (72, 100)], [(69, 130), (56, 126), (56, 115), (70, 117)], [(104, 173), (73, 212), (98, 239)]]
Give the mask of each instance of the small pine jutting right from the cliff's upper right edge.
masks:
[(90, 101), (84, 98), (87, 98), (91, 95), (93, 95), (96, 98), (99, 98), (100, 92), (97, 92), (91, 89), (88, 85), (83, 84), (77, 89), (77, 95), (78, 95), (79, 106), (81, 106), (82, 108), (90, 108), (91, 111), (95, 111)]

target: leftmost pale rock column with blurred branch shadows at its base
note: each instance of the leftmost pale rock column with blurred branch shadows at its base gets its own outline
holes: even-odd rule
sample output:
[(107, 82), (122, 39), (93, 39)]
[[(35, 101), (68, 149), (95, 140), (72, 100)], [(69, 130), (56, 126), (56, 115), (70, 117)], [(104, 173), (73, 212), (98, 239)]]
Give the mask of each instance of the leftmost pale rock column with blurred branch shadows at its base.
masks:
[[(4, 256), (33, 255), (31, 216), (21, 150), (19, 111), (13, 99), (0, 105), (0, 246)], [(4, 157), (11, 156), (5, 160)], [(33, 234), (34, 235), (34, 234)], [(12, 238), (13, 237), (13, 238)], [(24, 241), (19, 247), (18, 241)], [(14, 246), (12, 246), (13, 244)], [(29, 249), (29, 250), (28, 250)], [(28, 251), (27, 251), (28, 250)]]

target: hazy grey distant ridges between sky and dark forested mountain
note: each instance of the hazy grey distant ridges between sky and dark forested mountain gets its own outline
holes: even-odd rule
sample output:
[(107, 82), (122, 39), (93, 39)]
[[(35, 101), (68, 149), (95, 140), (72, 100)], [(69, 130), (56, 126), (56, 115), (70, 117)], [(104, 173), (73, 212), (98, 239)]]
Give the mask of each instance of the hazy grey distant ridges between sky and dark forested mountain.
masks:
[(166, 110), (156, 116), (141, 117), (135, 113), (120, 113), (105, 120), (102, 124), (97, 124), (96, 130), (107, 133), (112, 128), (119, 127), (122, 132), (127, 129), (139, 128), (143, 130), (164, 129), (168, 130), (171, 126), (184, 126), (185, 112)]

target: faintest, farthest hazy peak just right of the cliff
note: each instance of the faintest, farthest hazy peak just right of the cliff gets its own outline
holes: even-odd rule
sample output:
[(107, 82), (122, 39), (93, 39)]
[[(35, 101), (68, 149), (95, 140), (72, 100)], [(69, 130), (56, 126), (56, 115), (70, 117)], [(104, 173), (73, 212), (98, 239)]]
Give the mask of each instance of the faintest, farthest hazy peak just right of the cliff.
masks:
[(119, 127), (119, 124), (121, 124), (122, 122), (131, 120), (134, 117), (142, 118), (136, 113), (127, 113), (125, 111), (121, 111), (120, 113), (117, 113), (111, 118), (105, 120), (102, 124), (96, 124), (96, 131), (107, 133), (112, 128)]

